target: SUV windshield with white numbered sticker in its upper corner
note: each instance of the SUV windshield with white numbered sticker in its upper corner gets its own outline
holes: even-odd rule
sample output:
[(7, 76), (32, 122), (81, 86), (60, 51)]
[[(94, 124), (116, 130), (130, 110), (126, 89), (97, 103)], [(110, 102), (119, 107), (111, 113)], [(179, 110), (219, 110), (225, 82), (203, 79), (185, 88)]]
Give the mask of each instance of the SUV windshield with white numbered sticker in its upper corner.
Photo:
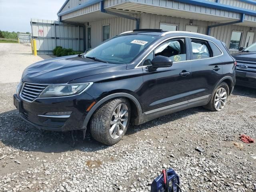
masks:
[(113, 64), (126, 64), (140, 55), (157, 36), (116, 36), (87, 52), (84, 57), (97, 58)]

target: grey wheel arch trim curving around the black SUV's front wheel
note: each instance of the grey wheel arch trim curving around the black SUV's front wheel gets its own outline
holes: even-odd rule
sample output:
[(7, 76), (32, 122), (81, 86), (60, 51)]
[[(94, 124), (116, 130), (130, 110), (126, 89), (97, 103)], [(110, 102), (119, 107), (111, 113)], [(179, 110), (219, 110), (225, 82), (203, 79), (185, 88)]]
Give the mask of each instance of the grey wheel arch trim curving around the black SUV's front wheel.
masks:
[(140, 102), (136, 99), (136, 97), (134, 97), (128, 93), (114, 93), (114, 94), (110, 94), (110, 95), (102, 98), (90, 109), (90, 111), (88, 112), (88, 114), (86, 115), (86, 117), (84, 119), (82, 129), (85, 129), (87, 127), (92, 115), (98, 109), (98, 107), (100, 107), (104, 102), (114, 99), (114, 98), (118, 98), (118, 97), (123, 97), (123, 98), (126, 98), (129, 100), (130, 105), (131, 105), (132, 114), (134, 114), (133, 112), (136, 112), (135, 116), (133, 118), (131, 117), (131, 122), (133, 122), (134, 124), (140, 124), (140, 122), (142, 120), (142, 118), (141, 118), (142, 117), (142, 108), (141, 108)]

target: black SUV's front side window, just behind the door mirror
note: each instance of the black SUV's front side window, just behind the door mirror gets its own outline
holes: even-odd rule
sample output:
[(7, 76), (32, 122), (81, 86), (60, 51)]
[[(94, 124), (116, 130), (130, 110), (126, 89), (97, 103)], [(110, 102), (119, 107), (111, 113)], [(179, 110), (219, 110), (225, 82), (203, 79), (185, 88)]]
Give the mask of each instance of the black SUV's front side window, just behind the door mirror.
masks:
[(184, 39), (175, 39), (164, 42), (155, 49), (155, 56), (169, 57), (173, 62), (186, 60), (186, 45)]

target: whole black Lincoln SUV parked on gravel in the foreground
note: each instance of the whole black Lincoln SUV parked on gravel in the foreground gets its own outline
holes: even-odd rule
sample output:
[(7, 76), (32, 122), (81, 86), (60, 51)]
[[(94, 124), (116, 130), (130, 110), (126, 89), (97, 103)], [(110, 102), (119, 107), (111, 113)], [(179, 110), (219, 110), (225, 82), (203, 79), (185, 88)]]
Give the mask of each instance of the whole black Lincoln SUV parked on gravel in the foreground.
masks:
[(76, 56), (32, 64), (14, 94), (21, 117), (46, 130), (90, 128), (107, 145), (130, 123), (195, 106), (224, 108), (235, 84), (224, 44), (191, 32), (134, 30)]

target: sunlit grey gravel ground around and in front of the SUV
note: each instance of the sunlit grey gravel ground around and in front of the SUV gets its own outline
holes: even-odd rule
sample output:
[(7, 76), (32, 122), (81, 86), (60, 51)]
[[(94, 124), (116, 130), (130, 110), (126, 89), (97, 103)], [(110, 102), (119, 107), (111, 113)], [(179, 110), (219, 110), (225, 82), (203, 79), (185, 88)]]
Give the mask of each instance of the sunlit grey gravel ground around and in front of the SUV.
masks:
[[(130, 126), (104, 146), (87, 134), (37, 130), (12, 104), (17, 83), (0, 84), (0, 191), (150, 191), (162, 168), (174, 168), (185, 192), (256, 191), (256, 90), (237, 87), (225, 110), (202, 107)], [(197, 146), (204, 149), (200, 153)]]

